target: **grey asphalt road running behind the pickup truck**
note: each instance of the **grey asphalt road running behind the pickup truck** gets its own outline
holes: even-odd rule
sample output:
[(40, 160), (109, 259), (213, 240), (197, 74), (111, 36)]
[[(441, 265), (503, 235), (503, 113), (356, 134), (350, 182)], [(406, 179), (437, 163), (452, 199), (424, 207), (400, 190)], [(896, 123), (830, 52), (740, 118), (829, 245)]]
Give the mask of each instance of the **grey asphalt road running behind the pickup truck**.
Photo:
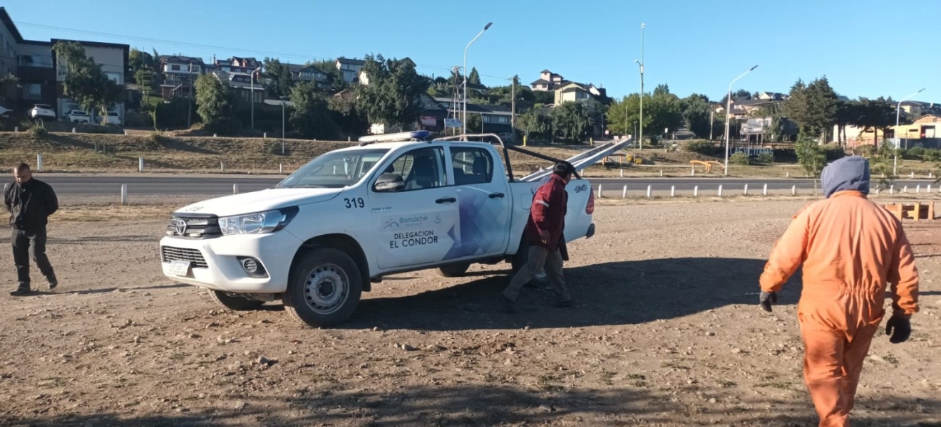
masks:
[[(40, 177), (56, 189), (58, 194), (69, 195), (105, 195), (119, 194), (121, 184), (127, 184), (128, 194), (138, 195), (187, 195), (187, 194), (231, 194), (232, 184), (238, 184), (239, 192), (259, 191), (279, 183), (277, 177), (255, 177), (246, 175), (187, 176), (187, 175), (43, 175)], [(604, 189), (616, 191), (625, 185), (629, 191), (646, 191), (651, 186), (653, 191), (669, 191), (676, 186), (677, 191), (693, 191), (695, 186), (700, 191), (712, 191), (721, 184), (724, 190), (741, 190), (745, 184), (749, 189), (758, 191), (764, 184), (768, 190), (789, 190), (797, 186), (798, 190), (813, 189), (809, 179), (781, 178), (592, 178), (592, 186), (598, 184)], [(932, 180), (899, 180), (896, 187), (924, 188)], [(933, 185), (937, 188), (937, 185)]]

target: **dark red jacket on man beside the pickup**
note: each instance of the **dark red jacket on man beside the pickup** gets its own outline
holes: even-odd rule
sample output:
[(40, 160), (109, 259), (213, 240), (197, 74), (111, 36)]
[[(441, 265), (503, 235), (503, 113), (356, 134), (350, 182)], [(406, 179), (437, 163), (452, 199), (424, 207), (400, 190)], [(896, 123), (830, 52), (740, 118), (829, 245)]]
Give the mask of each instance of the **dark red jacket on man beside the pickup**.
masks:
[[(550, 251), (559, 249), (566, 229), (566, 207), (568, 193), (566, 181), (562, 176), (552, 174), (549, 182), (539, 187), (530, 206), (529, 221), (526, 222), (526, 239), (531, 244), (542, 246)], [(549, 232), (549, 244), (543, 244), (539, 233)]]

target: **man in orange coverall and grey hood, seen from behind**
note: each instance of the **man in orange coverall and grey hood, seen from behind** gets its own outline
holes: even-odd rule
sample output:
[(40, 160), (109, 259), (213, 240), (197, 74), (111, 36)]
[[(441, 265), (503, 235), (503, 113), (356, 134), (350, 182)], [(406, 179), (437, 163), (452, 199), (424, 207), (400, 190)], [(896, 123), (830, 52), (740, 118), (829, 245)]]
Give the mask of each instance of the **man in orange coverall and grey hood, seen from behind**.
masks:
[(892, 283), (889, 342), (911, 335), (918, 272), (901, 221), (866, 198), (869, 162), (853, 156), (823, 169), (826, 200), (806, 206), (774, 246), (761, 275), (765, 311), (804, 263), (797, 307), (804, 337), (804, 380), (820, 426), (847, 426), (863, 359), (879, 328), (886, 282)]

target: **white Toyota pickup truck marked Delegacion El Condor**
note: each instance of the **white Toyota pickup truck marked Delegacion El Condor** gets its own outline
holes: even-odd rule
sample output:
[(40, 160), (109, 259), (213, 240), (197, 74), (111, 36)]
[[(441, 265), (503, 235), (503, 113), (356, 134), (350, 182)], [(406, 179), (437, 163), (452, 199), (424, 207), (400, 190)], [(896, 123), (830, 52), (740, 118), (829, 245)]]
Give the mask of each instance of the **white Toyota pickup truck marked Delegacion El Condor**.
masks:
[[(324, 327), (349, 318), (385, 275), (439, 268), (455, 277), (502, 261), (516, 270), (534, 192), (550, 171), (515, 178), (508, 152), (553, 159), (496, 135), (426, 136), (360, 138), (271, 189), (184, 206), (160, 240), (164, 274), (210, 289), (231, 310), (281, 299), (295, 319)], [(579, 171), (627, 142), (568, 161)], [(567, 191), (566, 241), (592, 236), (591, 185), (576, 174)]]

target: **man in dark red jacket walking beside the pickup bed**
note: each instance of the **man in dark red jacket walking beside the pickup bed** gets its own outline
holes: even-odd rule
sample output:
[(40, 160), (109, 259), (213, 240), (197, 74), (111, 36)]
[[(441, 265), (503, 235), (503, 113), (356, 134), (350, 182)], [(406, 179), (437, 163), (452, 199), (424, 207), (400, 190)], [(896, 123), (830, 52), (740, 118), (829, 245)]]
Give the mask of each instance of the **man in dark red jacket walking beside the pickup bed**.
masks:
[(539, 187), (533, 196), (529, 221), (523, 231), (523, 238), (530, 244), (528, 260), (519, 268), (502, 294), (502, 308), (508, 313), (516, 313), (516, 301), (522, 287), (533, 280), (534, 276), (545, 269), (546, 276), (555, 291), (556, 307), (571, 307), (572, 297), (568, 295), (566, 281), (562, 276), (562, 253), (560, 244), (564, 244), (566, 229), (566, 206), (568, 193), (566, 184), (572, 178), (575, 168), (568, 162), (555, 165), (549, 181)]

